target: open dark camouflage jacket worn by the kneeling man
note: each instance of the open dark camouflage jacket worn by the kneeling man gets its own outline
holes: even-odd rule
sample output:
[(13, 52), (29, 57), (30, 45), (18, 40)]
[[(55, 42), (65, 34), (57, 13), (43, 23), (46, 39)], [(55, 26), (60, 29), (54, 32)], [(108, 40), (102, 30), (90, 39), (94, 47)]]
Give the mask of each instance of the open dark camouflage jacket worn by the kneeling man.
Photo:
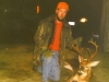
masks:
[[(44, 46), (48, 47), (50, 45), (55, 33), (53, 32), (55, 19), (56, 15), (51, 15), (39, 23), (36, 34), (34, 36), (35, 40), (34, 56), (41, 55), (43, 47)], [(71, 26), (68, 24), (68, 22), (64, 20), (60, 38), (60, 58), (63, 58), (63, 56), (65, 55), (64, 52), (65, 47), (71, 47), (72, 43), (73, 43), (72, 30)]]

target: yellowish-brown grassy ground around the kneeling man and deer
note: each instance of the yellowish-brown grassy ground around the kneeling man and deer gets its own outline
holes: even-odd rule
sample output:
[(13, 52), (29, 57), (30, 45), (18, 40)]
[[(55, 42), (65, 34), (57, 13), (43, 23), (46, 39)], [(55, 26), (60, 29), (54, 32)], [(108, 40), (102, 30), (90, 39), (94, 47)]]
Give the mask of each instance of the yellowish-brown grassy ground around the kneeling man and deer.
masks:
[[(0, 82), (41, 82), (41, 74), (32, 70), (34, 44), (0, 45)], [(109, 82), (109, 52), (98, 51), (94, 60), (100, 63), (93, 68), (89, 82)], [(70, 73), (62, 72), (60, 82), (66, 82)]]

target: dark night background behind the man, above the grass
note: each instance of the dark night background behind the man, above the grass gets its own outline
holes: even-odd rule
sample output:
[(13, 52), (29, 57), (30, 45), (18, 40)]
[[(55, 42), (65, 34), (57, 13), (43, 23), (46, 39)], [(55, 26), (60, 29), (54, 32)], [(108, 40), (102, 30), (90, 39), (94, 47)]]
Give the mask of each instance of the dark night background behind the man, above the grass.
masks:
[[(76, 22), (74, 36), (99, 32), (102, 0), (0, 0), (0, 44), (34, 43), (39, 21), (53, 14), (59, 1), (70, 4), (66, 21)], [(81, 17), (87, 17), (87, 23), (81, 24)]]

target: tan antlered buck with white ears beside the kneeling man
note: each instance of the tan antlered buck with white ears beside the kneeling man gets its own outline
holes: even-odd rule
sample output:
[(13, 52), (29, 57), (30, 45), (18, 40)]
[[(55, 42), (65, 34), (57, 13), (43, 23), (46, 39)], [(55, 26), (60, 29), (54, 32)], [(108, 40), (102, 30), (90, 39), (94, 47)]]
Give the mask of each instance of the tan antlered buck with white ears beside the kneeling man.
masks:
[[(72, 45), (72, 48), (78, 54), (80, 67), (78, 67), (77, 72), (74, 75), (72, 75), (68, 80), (68, 82), (89, 82), (93, 75), (93, 67), (96, 67), (100, 62), (100, 61), (92, 61), (97, 54), (98, 45), (94, 42), (88, 42), (88, 43), (95, 46), (95, 51), (93, 54), (90, 49), (87, 48), (88, 54), (89, 54), (88, 59), (84, 59), (83, 48), (80, 49), (78, 46)], [(70, 63), (68, 62), (65, 65), (66, 66), (64, 66), (64, 68), (70, 69), (73, 72), (72, 66), (70, 66)]]

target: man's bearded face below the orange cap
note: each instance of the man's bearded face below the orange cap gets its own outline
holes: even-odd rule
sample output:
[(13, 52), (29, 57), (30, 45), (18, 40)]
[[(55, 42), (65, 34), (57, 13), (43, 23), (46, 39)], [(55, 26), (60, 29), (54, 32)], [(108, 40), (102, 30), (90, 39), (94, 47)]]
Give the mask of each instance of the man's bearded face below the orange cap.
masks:
[(58, 10), (56, 10), (57, 19), (59, 21), (64, 20), (66, 13), (68, 13), (66, 9), (58, 9)]

